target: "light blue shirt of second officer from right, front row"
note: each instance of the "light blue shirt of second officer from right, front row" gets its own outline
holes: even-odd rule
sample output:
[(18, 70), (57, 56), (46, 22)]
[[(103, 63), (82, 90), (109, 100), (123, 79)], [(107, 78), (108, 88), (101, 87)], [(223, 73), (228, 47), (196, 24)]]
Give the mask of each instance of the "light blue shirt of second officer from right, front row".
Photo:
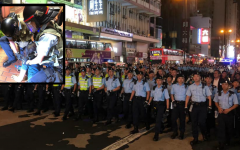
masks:
[(208, 86), (204, 86), (202, 88), (202, 83), (200, 83), (199, 85), (193, 83), (188, 87), (186, 95), (192, 96), (193, 102), (205, 102), (206, 96), (211, 96), (212, 93), (209, 90)]

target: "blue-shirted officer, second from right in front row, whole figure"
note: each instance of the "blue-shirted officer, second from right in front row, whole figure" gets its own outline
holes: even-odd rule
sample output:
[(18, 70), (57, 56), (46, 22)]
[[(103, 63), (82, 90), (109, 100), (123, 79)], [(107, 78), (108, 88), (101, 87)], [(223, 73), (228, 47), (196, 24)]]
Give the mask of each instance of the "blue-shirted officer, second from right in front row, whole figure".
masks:
[[(201, 82), (201, 76), (198, 72), (193, 75), (194, 83), (189, 86), (186, 93), (185, 101), (185, 113), (188, 111), (188, 101), (190, 96), (192, 96), (192, 103), (189, 111), (191, 112), (192, 118), (192, 134), (193, 141), (190, 142), (191, 145), (198, 143), (198, 126), (201, 129), (203, 140), (207, 141), (207, 129), (206, 129), (206, 119), (208, 110), (212, 109), (211, 101), (211, 91), (209, 87)], [(209, 103), (206, 103), (206, 98), (209, 99)]]

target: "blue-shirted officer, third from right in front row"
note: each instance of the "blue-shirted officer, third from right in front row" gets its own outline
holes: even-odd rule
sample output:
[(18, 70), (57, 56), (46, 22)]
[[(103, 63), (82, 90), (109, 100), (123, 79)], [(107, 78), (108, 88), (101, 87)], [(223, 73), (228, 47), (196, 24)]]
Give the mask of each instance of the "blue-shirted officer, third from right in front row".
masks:
[(173, 134), (172, 139), (178, 136), (178, 125), (177, 119), (180, 121), (180, 139), (184, 138), (185, 132), (185, 99), (186, 99), (187, 85), (184, 84), (184, 75), (179, 74), (177, 78), (177, 84), (174, 84), (171, 89), (171, 99), (172, 99), (172, 128)]

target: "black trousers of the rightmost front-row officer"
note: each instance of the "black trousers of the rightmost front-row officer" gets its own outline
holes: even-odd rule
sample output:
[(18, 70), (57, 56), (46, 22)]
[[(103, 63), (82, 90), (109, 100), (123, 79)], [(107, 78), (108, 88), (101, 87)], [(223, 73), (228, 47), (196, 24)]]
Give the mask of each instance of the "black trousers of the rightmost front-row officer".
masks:
[(233, 135), (233, 112), (218, 114), (218, 141), (230, 141)]

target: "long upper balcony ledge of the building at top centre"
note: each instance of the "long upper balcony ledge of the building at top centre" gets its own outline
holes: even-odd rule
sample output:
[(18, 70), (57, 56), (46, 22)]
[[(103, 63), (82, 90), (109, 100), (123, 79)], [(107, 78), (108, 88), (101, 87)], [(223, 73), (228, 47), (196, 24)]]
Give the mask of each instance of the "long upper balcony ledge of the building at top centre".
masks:
[(122, 6), (128, 8), (135, 8), (139, 10), (140, 13), (146, 13), (151, 15), (152, 17), (160, 16), (160, 8), (157, 8), (150, 3), (147, 3), (143, 0), (109, 0), (109, 1), (117, 1), (122, 4)]

